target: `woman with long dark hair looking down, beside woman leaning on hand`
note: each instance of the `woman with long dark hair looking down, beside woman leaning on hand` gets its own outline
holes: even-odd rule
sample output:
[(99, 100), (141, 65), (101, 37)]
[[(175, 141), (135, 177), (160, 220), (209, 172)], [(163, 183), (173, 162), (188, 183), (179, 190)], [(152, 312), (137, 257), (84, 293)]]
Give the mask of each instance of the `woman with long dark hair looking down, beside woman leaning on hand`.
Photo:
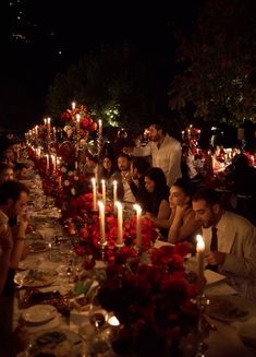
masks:
[(161, 168), (151, 167), (145, 174), (145, 188), (149, 192), (149, 200), (145, 206), (147, 215), (167, 219), (170, 216), (169, 187)]

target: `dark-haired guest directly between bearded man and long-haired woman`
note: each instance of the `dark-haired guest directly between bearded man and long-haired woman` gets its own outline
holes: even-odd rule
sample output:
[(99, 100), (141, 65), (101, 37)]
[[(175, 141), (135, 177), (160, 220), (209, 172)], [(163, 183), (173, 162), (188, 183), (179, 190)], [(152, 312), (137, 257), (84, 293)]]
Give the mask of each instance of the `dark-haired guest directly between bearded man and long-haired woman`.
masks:
[(144, 157), (133, 157), (131, 164), (131, 182), (130, 187), (136, 202), (145, 210), (149, 193), (145, 188), (145, 174), (149, 170), (150, 165)]

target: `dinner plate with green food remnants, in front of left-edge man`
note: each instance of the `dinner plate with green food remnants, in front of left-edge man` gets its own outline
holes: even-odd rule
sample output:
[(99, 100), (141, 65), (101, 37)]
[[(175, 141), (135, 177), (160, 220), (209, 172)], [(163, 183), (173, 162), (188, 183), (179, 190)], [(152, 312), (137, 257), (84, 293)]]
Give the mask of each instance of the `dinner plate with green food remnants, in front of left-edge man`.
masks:
[(40, 287), (51, 285), (58, 273), (52, 270), (36, 270), (19, 272), (14, 276), (14, 283), (24, 287)]

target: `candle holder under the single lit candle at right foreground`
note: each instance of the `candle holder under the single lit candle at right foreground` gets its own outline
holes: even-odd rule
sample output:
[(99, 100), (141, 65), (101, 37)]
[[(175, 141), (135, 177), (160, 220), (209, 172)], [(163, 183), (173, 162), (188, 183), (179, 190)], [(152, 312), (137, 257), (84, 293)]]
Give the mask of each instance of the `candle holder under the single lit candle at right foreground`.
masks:
[(196, 331), (196, 354), (195, 357), (205, 357), (205, 350), (208, 348), (208, 345), (204, 342), (205, 337), (209, 333), (209, 326), (206, 323), (204, 313), (205, 308), (208, 305), (208, 299), (206, 298), (204, 291), (199, 293), (196, 298), (196, 306), (198, 310), (198, 322)]

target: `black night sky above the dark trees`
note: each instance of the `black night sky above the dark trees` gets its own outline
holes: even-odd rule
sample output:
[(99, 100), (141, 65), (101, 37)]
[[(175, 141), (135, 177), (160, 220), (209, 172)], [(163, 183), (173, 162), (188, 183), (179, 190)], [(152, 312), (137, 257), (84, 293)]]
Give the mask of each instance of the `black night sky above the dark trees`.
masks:
[[(180, 19), (190, 24), (192, 2), (7, 1), (1, 67), (1, 96), (7, 102), (1, 104), (1, 116), (10, 117), (10, 127), (22, 127), (26, 119), (15, 120), (16, 104), (22, 106), (22, 117), (35, 121), (42, 115), (45, 96), (54, 75), (105, 44), (139, 44), (147, 51), (168, 56), (170, 67), (174, 67), (172, 21)], [(10, 98), (14, 102), (11, 114)]]

